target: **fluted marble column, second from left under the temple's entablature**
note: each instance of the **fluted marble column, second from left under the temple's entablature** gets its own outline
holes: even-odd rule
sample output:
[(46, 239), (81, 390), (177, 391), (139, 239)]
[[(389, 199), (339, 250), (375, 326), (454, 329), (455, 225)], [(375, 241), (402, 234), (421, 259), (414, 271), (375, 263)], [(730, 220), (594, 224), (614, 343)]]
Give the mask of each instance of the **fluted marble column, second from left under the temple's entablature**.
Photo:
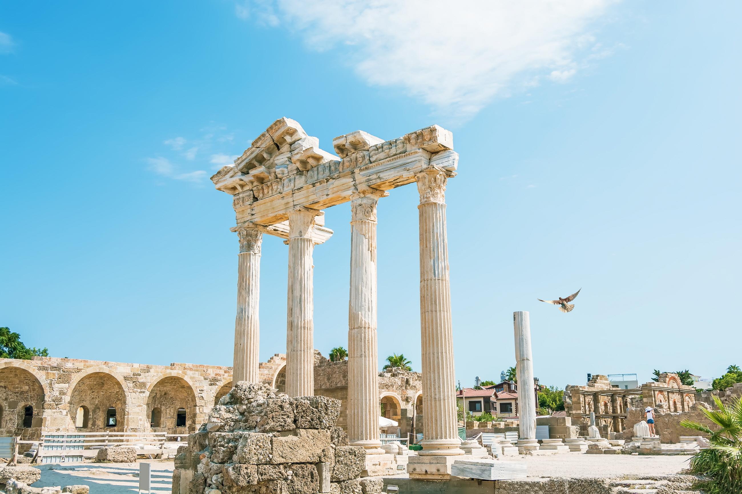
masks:
[(286, 394), (315, 394), (312, 229), (319, 211), (299, 207), (289, 213), (289, 294), (286, 314)]

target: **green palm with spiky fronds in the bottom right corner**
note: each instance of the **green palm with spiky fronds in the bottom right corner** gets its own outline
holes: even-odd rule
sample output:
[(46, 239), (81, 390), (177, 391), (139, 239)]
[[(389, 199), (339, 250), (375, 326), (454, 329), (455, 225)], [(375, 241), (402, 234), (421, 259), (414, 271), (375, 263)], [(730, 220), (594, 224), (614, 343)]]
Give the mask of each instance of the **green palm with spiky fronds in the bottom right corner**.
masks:
[(729, 406), (722, 404), (718, 396), (713, 398), (717, 409), (701, 411), (718, 429), (697, 422), (680, 422), (683, 427), (709, 435), (710, 447), (697, 452), (690, 467), (692, 472), (709, 478), (698, 486), (706, 493), (742, 493), (742, 397)]

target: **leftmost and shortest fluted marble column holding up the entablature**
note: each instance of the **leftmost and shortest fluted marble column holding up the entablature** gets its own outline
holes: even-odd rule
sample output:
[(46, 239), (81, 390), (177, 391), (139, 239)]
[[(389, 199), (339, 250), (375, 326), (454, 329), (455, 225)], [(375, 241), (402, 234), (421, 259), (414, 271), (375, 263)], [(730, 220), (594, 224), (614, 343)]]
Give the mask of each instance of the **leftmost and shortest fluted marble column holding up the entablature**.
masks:
[(237, 317), (234, 320), (232, 383), (259, 382), (260, 365), (260, 244), (263, 234), (255, 226), (234, 228), (240, 238), (237, 268)]

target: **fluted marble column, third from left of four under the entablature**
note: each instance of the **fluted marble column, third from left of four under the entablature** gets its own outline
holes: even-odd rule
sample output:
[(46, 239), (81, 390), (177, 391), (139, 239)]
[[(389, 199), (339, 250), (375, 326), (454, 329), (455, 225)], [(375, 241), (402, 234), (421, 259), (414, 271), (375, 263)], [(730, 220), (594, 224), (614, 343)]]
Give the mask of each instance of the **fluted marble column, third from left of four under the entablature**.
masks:
[(353, 194), (350, 208), (348, 307), (348, 435), (350, 444), (380, 454), (376, 339), (376, 204), (380, 194)]

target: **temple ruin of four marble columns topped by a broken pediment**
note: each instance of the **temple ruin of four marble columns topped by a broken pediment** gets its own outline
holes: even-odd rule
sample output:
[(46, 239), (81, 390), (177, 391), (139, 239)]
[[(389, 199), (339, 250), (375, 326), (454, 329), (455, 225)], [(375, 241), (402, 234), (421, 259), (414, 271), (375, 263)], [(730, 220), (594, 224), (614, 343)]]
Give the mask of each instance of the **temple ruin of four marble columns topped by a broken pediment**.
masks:
[(348, 321), (348, 431), (368, 455), (383, 453), (378, 431), (376, 340), (376, 206), (388, 191), (415, 182), (420, 194), (420, 312), (423, 450), (417, 461), (450, 472), (462, 455), (456, 422), (445, 188), (456, 175), (453, 135), (433, 125), (384, 140), (355, 131), (323, 151), (298, 122), (278, 119), (252, 142), (234, 166), (211, 180), (232, 195), (240, 240), (234, 382), (259, 379), (258, 293), (263, 234), (286, 239), (289, 283), (286, 327), (286, 393), (314, 394), (312, 251), (332, 231), (324, 208), (350, 202)]

